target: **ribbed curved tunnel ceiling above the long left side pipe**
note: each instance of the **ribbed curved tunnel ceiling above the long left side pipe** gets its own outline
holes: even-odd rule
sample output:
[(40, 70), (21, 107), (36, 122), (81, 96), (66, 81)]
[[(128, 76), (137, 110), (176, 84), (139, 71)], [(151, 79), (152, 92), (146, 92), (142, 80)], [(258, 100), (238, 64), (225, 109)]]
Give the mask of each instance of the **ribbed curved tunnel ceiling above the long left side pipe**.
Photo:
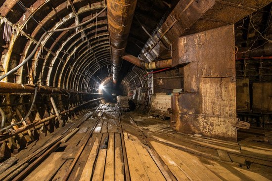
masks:
[[(138, 0), (135, 15), (152, 33), (177, 0)], [(104, 0), (0, 0), (1, 75), (22, 62), (42, 35), (68, 28), (93, 18), (106, 5)], [(137, 56), (148, 40), (133, 20), (126, 51)], [(32, 61), (3, 81), (59, 87), (67, 90), (97, 91), (102, 82), (111, 83), (111, 53), (107, 11), (87, 25), (49, 33)], [(123, 62), (119, 84), (133, 90), (146, 73)], [(123, 89), (124, 90), (124, 89)]]

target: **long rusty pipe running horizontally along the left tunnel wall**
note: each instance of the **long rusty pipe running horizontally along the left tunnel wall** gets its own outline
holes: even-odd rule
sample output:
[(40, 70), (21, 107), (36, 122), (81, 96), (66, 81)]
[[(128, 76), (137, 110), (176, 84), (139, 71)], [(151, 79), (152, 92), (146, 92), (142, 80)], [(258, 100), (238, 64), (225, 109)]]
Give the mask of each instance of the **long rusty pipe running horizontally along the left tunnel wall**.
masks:
[[(100, 94), (100, 93), (92, 93), (92, 92), (81, 92), (74, 90), (65, 90), (61, 88), (53, 88), (48, 86), (38, 86), (38, 92), (41, 93), (58, 93), (58, 94)], [(27, 84), (15, 84), (15, 83), (7, 83), (0, 82), (0, 93), (34, 93), (35, 85), (27, 85)]]

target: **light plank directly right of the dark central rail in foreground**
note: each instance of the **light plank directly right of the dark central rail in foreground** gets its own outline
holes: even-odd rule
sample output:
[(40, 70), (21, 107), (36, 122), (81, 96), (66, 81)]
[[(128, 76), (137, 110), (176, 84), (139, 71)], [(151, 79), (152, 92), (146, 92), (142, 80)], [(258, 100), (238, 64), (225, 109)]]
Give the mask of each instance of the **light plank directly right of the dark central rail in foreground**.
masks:
[(125, 139), (129, 170), (132, 181), (149, 181), (147, 173), (140, 161), (136, 148), (130, 139)]

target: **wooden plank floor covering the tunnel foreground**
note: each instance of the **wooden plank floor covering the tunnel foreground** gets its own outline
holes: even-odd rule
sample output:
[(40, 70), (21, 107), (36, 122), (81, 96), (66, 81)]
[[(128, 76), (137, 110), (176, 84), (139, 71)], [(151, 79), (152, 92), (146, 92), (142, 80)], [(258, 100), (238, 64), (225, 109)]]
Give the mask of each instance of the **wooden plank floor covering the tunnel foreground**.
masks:
[[(113, 107), (108, 109), (112, 111)], [(95, 120), (96, 118), (92, 117), (80, 125), (76, 134), (61, 143), (60, 147), (24, 180), (62, 181), (84, 144), (84, 137), (94, 127)], [(130, 127), (126, 126), (126, 128)], [(147, 150), (147, 145), (137, 138), (137, 133), (136, 136), (125, 131), (120, 133), (118, 121), (106, 117), (102, 117), (93, 130), (68, 181), (124, 181), (126, 177), (121, 134), (125, 135), (130, 179), (132, 181), (167, 180), (163, 168), (156, 164), (154, 156)], [(170, 129), (166, 128), (162, 132), (167, 130)], [(233, 165), (198, 157), (155, 140), (151, 140), (150, 143), (178, 181), (269, 181), (271, 179)]]

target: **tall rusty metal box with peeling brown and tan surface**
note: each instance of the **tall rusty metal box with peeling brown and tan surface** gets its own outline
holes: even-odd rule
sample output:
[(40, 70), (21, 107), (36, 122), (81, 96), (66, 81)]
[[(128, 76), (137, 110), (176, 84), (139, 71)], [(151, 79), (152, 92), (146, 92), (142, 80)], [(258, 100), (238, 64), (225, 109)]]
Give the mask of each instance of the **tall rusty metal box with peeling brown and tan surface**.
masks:
[(181, 37), (179, 46), (183, 50), (175, 61), (185, 65), (187, 92), (173, 95), (176, 130), (236, 141), (233, 25)]

